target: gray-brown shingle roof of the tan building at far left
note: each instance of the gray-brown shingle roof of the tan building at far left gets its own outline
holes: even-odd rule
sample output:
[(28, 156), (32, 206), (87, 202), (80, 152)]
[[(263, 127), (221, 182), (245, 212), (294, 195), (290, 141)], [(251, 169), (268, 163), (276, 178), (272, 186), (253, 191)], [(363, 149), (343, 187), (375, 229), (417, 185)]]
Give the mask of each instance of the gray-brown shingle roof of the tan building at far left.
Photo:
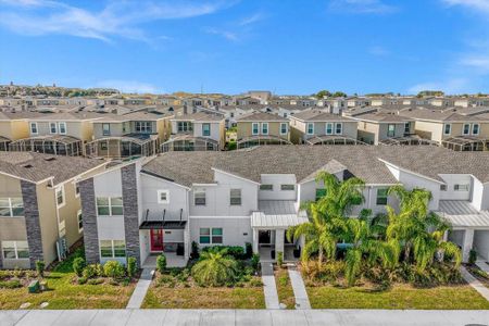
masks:
[(58, 185), (102, 164), (103, 161), (95, 159), (0, 152), (0, 173), (33, 183), (52, 177), (54, 185)]

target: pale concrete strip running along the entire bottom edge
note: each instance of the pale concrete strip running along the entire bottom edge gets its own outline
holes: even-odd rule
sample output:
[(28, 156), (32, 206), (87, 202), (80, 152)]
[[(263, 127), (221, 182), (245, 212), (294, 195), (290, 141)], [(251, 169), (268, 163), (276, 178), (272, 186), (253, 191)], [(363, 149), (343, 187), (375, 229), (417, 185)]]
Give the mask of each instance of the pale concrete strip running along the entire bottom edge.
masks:
[(0, 311), (2, 326), (488, 326), (489, 311), (33, 310)]

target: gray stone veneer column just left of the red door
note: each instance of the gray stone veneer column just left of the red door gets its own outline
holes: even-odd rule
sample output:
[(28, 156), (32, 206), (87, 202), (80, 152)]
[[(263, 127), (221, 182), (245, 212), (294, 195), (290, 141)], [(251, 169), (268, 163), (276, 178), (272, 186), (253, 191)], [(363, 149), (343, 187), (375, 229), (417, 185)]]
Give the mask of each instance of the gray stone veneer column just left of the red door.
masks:
[(124, 231), (126, 236), (126, 254), (134, 256), (138, 266), (141, 265), (139, 246), (139, 216), (138, 216), (138, 185), (136, 164), (121, 168), (123, 205), (124, 205)]

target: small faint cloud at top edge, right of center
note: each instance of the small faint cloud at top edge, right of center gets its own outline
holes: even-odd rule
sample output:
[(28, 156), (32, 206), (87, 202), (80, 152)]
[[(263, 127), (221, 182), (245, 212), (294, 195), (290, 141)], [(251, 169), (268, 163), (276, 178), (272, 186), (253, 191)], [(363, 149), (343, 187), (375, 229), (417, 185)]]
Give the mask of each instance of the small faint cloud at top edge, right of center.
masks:
[(383, 0), (330, 0), (329, 9), (335, 12), (358, 14), (388, 14), (399, 10)]

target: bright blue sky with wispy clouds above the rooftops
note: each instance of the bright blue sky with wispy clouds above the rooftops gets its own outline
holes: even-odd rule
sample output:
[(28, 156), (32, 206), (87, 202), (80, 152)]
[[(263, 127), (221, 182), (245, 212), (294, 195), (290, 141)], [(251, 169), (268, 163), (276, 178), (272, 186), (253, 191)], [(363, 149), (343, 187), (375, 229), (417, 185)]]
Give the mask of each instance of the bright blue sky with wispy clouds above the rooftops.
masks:
[(0, 0), (0, 83), (489, 92), (489, 0)]

